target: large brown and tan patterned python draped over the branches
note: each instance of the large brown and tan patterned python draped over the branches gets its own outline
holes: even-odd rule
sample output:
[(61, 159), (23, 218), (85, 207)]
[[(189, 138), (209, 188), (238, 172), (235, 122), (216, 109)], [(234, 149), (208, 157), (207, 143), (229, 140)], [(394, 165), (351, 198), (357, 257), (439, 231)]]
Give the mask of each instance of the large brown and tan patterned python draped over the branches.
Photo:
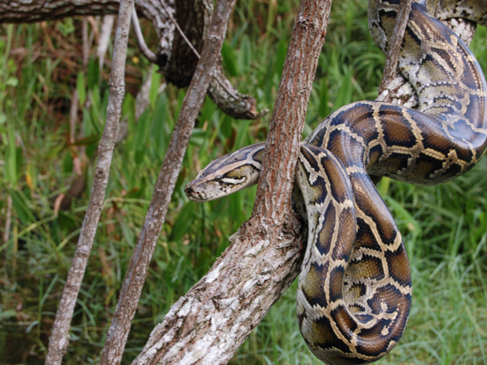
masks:
[[(401, 0), (369, 1), (369, 31), (386, 53)], [(438, 16), (435, 18), (432, 14)], [(368, 364), (402, 336), (412, 298), (402, 236), (375, 184), (416, 185), (470, 170), (487, 146), (487, 85), (468, 47), (440, 20), (487, 24), (485, 0), (413, 0), (399, 72), (417, 109), (358, 101), (334, 111), (300, 144), (293, 200), (308, 224), (297, 315), (326, 364)], [(265, 144), (220, 157), (185, 187), (205, 202), (255, 184)]]

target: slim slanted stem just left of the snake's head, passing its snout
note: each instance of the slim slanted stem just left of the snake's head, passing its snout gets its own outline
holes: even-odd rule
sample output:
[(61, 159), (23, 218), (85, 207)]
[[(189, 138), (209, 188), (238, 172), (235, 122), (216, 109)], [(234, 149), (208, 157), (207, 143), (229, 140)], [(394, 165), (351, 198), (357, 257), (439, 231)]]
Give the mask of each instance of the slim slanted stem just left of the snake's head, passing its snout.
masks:
[(235, 0), (218, 0), (216, 3), (216, 10), (213, 14), (205, 46), (202, 49), (200, 62), (198, 62), (193, 80), (183, 100), (183, 106), (157, 178), (146, 219), (120, 290), (120, 299), (101, 354), (102, 365), (116, 365), (120, 364), (122, 360), (125, 342), (127, 342), (142, 286), (144, 286), (148, 265), (168, 211), (194, 122), (205, 98), (213, 70), (218, 62), (228, 17), (234, 5)]

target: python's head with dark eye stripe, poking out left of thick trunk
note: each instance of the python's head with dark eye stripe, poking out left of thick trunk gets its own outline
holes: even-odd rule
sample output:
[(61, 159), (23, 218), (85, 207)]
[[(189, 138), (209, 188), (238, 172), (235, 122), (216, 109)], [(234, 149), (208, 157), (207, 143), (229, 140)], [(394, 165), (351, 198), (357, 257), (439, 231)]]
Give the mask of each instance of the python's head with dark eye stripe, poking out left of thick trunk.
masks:
[(184, 189), (189, 200), (208, 202), (257, 183), (264, 144), (253, 144), (226, 154), (198, 172)]

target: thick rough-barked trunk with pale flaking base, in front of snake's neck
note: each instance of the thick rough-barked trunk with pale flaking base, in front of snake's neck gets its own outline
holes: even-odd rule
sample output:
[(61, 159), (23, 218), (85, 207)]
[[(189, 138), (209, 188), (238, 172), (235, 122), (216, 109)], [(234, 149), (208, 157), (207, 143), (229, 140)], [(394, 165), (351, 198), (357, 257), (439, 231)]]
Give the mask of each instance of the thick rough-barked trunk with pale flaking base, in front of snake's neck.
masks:
[(330, 5), (300, 3), (252, 217), (209, 273), (172, 306), (133, 364), (226, 364), (298, 275), (306, 234), (292, 211), (291, 190)]

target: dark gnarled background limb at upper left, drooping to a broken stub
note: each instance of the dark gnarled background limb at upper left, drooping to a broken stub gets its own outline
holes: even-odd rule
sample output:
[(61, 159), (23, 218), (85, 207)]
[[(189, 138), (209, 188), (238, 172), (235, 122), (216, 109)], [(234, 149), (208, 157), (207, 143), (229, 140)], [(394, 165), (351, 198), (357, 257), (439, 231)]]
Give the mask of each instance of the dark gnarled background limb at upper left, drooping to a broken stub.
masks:
[[(192, 79), (198, 57), (194, 55), (160, 1), (166, 1), (183, 33), (198, 52), (201, 51), (205, 34), (213, 14), (211, 0), (135, 0), (137, 13), (153, 23), (159, 37), (156, 63), (166, 79), (179, 87), (186, 87)], [(0, 1), (1, 23), (29, 23), (51, 21), (76, 15), (116, 14), (119, 2), (114, 0), (39, 0)], [(221, 87), (220, 85), (224, 85)], [(225, 113), (237, 119), (255, 119), (256, 100), (253, 96), (239, 93), (226, 79), (221, 66), (212, 81), (209, 96)]]

